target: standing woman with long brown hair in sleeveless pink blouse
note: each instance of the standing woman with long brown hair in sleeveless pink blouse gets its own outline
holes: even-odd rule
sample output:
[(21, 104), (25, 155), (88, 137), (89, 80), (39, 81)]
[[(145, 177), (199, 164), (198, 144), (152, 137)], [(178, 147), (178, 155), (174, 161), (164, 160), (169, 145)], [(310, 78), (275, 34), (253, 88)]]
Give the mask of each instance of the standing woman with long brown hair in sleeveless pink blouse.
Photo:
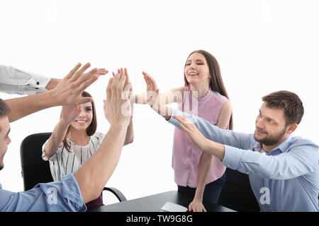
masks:
[[(143, 72), (145, 81), (154, 79)], [(150, 90), (149, 90), (150, 91)], [(157, 86), (153, 92), (158, 93)], [(148, 103), (150, 94), (133, 95), (136, 103)], [(184, 86), (159, 93), (161, 104), (177, 102), (178, 109), (208, 120), (221, 129), (233, 129), (232, 107), (228, 100), (218, 61), (204, 50), (191, 52), (184, 66)], [(179, 192), (194, 196), (190, 211), (206, 211), (203, 201), (217, 203), (225, 184), (225, 166), (213, 155), (203, 153), (184, 131), (175, 129), (172, 167)]]

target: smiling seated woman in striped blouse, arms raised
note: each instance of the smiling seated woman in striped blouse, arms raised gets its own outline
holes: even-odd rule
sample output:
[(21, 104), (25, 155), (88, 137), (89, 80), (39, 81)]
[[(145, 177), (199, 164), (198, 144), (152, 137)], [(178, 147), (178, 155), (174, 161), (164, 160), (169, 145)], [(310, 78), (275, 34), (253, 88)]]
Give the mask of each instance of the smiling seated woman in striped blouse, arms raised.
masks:
[[(82, 97), (91, 97), (84, 91)], [(133, 125), (130, 120), (124, 145), (133, 142)], [(96, 107), (94, 102), (83, 105), (63, 106), (60, 121), (50, 138), (43, 144), (43, 160), (50, 160), (54, 181), (60, 181), (67, 174), (77, 172), (79, 167), (99, 150), (104, 134), (96, 131)], [(100, 195), (86, 203), (86, 208), (103, 206)]]

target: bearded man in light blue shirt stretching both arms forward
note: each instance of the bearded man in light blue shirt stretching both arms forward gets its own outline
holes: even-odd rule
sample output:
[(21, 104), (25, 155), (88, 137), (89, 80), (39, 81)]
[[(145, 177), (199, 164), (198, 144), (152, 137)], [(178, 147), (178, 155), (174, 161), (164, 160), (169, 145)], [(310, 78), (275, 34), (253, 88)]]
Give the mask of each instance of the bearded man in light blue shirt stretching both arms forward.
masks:
[(278, 91), (262, 97), (254, 134), (219, 129), (205, 119), (163, 106), (157, 85), (148, 104), (164, 119), (184, 130), (199, 149), (218, 157), (226, 167), (249, 174), (262, 211), (319, 211), (318, 145), (292, 136), (303, 117), (303, 103), (295, 93)]

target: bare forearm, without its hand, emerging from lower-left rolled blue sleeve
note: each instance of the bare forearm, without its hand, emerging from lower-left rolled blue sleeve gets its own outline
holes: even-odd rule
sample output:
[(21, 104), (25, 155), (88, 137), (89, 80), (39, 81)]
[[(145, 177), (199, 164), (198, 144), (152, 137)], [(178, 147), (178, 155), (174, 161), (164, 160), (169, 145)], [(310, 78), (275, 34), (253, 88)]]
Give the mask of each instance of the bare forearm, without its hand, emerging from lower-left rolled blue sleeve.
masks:
[(75, 174), (84, 203), (97, 198), (111, 177), (121, 155), (127, 126), (111, 125), (99, 151)]

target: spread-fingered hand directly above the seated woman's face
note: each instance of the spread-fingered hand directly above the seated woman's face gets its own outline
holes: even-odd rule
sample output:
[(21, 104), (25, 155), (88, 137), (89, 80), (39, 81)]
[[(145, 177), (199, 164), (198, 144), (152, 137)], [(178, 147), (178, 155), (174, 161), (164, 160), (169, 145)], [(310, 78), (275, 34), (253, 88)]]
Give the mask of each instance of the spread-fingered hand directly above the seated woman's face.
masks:
[(82, 105), (93, 101), (92, 97), (82, 97), (82, 92), (108, 71), (92, 69), (84, 73), (91, 64), (87, 63), (81, 69), (80, 66), (81, 64), (77, 64), (54, 89), (50, 90), (52, 97), (56, 100), (56, 105)]

